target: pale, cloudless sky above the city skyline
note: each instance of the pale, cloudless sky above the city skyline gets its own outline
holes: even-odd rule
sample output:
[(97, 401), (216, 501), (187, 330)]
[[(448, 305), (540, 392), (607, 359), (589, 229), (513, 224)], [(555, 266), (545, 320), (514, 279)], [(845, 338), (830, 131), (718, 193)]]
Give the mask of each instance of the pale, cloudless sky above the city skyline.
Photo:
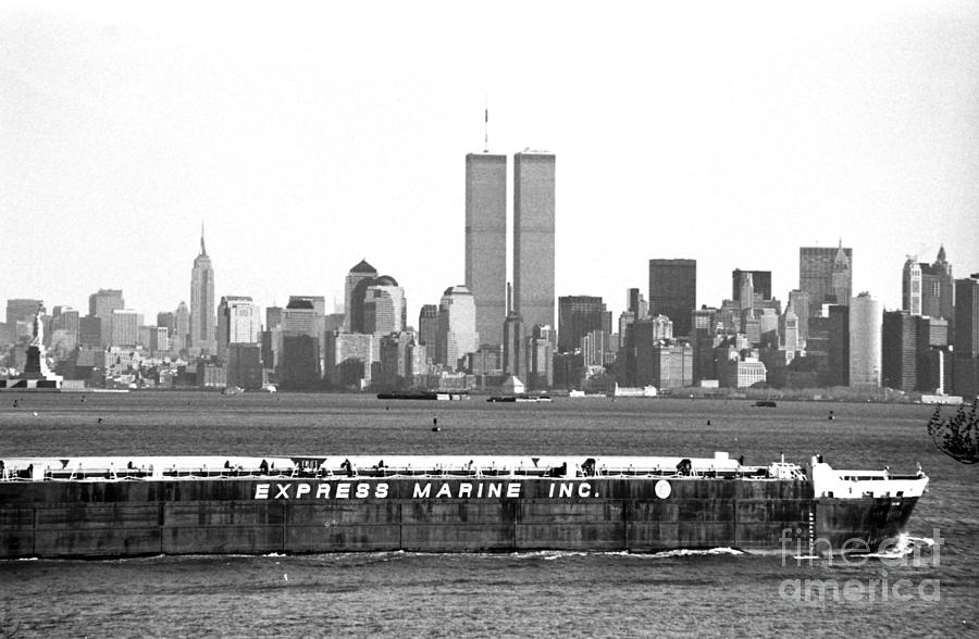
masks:
[[(556, 290), (616, 315), (648, 260), (697, 302), (801, 246), (979, 272), (979, 3), (0, 0), (0, 299), (343, 302), (367, 259), (409, 322), (463, 281), (464, 156), (556, 154)], [(512, 180), (508, 199), (512, 199)], [(511, 202), (510, 202), (511, 203)]]

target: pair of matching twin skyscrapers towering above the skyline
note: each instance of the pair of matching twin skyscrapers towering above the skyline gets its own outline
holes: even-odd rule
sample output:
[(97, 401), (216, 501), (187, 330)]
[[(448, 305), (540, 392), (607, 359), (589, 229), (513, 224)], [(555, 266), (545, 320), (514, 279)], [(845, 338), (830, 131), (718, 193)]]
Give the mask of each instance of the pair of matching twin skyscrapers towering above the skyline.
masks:
[(507, 156), (466, 156), (466, 287), (485, 344), (504, 342), (508, 311), (523, 325), (554, 326), (553, 153), (513, 155), (513, 299), (507, 309)]

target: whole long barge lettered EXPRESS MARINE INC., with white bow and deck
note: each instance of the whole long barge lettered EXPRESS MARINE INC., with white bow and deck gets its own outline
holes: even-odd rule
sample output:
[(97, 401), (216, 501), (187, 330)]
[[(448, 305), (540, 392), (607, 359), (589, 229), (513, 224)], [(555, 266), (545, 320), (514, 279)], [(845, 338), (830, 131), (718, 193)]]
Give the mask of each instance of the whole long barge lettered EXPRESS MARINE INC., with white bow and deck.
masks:
[(814, 456), (133, 456), (0, 461), (0, 557), (877, 549), (920, 471)]

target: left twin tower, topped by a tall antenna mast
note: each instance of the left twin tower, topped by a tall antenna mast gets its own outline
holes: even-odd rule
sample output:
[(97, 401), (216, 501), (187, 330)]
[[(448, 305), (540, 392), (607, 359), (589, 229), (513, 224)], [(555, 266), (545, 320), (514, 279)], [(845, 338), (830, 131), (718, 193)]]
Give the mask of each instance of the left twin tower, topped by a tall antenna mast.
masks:
[(507, 156), (466, 155), (466, 288), (483, 343), (503, 343), (507, 281)]

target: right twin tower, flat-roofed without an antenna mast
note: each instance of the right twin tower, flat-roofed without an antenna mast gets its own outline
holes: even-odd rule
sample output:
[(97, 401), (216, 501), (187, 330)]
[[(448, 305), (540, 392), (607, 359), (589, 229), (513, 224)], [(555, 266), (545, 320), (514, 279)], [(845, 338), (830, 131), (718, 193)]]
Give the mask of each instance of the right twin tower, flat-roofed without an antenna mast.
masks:
[(554, 326), (555, 156), (513, 155), (513, 310), (525, 326)]

